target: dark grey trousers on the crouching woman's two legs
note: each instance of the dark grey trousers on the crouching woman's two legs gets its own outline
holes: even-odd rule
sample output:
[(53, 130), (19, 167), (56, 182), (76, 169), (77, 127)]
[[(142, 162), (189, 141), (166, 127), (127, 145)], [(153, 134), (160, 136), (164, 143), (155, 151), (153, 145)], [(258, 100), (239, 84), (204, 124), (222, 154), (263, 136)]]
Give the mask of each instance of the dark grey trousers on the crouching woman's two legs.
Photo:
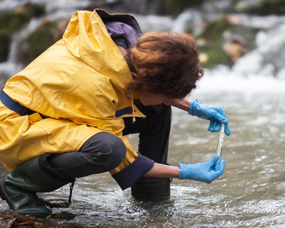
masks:
[[(123, 135), (139, 133), (139, 153), (155, 162), (166, 164), (171, 125), (171, 107), (167, 105), (144, 106), (139, 100), (135, 105), (146, 118), (123, 118)], [(125, 144), (118, 137), (101, 132), (88, 139), (79, 152), (67, 152), (52, 157), (48, 162), (61, 174), (79, 178), (108, 172), (121, 164), (126, 154)]]

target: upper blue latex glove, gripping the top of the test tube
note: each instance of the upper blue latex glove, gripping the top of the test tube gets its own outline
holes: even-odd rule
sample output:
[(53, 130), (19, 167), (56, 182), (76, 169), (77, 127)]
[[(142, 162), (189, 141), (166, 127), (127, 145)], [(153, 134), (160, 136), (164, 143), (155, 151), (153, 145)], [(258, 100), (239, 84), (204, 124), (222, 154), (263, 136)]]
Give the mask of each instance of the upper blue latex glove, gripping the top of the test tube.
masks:
[(228, 125), (229, 121), (227, 120), (224, 109), (221, 106), (204, 105), (196, 99), (191, 103), (188, 114), (209, 120), (210, 125), (208, 127), (208, 131), (211, 132), (221, 131), (221, 123), (224, 123), (225, 134), (228, 136), (231, 134), (230, 127)]

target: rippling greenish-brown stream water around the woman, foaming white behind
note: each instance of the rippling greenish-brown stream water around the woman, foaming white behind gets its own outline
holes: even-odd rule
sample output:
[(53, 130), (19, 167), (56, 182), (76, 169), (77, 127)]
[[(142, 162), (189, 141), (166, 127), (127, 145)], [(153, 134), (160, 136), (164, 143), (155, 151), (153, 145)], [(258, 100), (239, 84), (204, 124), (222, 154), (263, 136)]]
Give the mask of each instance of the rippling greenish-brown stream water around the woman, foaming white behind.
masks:
[[(154, 16), (145, 22), (149, 17)], [(155, 18), (156, 22), (160, 18), (170, 20), (168, 25), (179, 25), (167, 17)], [(142, 19), (142, 27), (151, 29)], [(249, 21), (265, 25), (255, 19)], [(282, 63), (276, 74), (270, 64), (262, 62), (264, 56), (274, 57), (270, 56), (274, 48), (284, 47), (285, 22), (284, 17), (272, 20), (281, 25), (271, 33), (259, 33), (256, 50), (242, 57), (232, 70), (218, 66), (206, 71), (190, 96), (201, 103), (223, 106), (229, 119), (231, 135), (224, 139), (226, 167), (221, 177), (211, 184), (173, 180), (171, 197), (155, 202), (135, 200), (130, 189), (122, 192), (108, 173), (78, 178), (70, 207), (53, 209), (54, 213), (66, 211), (74, 216), (53, 220), (70, 227), (285, 227), (285, 68)], [(266, 40), (275, 41), (271, 44)], [(11, 62), (0, 68), (7, 69)], [(14, 66), (11, 72), (17, 70)], [(0, 78), (0, 84), (5, 80)], [(176, 108), (172, 111), (168, 163), (210, 159), (218, 133), (207, 131), (209, 121)], [(129, 139), (137, 145), (138, 135)], [(0, 176), (5, 173), (1, 166)], [(68, 199), (69, 186), (40, 195)], [(0, 218), (11, 213), (2, 200), (0, 211)]]

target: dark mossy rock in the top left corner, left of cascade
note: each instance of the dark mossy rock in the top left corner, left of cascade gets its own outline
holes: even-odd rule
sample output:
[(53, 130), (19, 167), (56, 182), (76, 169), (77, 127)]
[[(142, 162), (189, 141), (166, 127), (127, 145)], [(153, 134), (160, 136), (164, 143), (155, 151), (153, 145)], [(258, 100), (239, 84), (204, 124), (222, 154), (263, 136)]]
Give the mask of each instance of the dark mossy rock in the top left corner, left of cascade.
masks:
[(5, 12), (0, 15), (0, 62), (8, 58), (12, 34), (23, 28), (32, 17), (44, 13), (44, 5), (27, 4), (16, 12)]

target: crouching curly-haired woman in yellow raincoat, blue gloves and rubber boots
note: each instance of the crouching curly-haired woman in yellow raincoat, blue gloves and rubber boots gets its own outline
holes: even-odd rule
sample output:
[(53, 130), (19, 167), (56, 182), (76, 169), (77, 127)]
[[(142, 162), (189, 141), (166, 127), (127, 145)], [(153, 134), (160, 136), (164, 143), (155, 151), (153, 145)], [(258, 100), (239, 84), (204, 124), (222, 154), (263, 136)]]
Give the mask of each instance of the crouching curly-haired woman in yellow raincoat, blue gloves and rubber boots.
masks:
[[(218, 156), (166, 164), (170, 105), (210, 120), (211, 132), (226, 123), (230, 134), (222, 107), (186, 98), (202, 76), (191, 36), (142, 35), (131, 15), (76, 12), (63, 39), (1, 91), (0, 160), (11, 171), (0, 181), (2, 199), (17, 212), (50, 214), (37, 192), (69, 182), (72, 190), (75, 178), (107, 171), (137, 197), (169, 195), (167, 178), (211, 183), (224, 170), (223, 159), (213, 168)], [(131, 133), (140, 133), (139, 152)], [(147, 190), (157, 185), (162, 194)]]

